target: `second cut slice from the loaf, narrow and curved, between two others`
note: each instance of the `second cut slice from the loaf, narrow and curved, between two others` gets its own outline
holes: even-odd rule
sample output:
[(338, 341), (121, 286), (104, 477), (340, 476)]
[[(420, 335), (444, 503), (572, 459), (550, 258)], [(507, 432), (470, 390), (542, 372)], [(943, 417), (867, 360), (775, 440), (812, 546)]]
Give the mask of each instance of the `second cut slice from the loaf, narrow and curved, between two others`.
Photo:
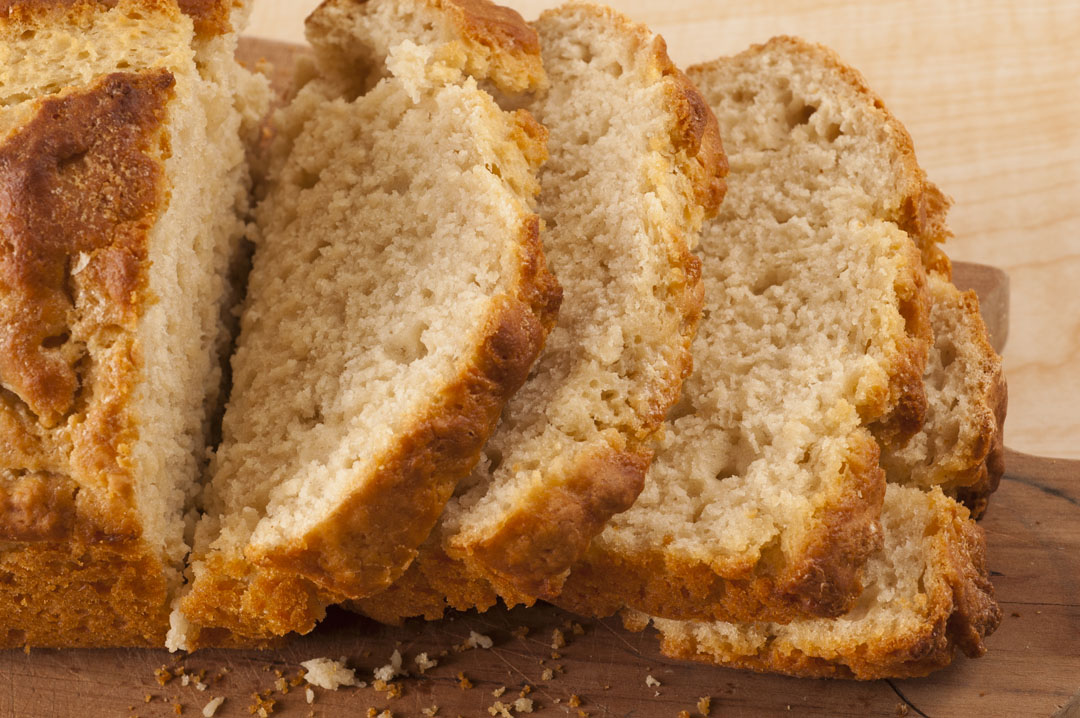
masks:
[(647, 442), (690, 371), (702, 301), (690, 247), (727, 165), (662, 38), (588, 3), (534, 27), (551, 86), (526, 106), (551, 133), (539, 212), (565, 301), (440, 532), (508, 591), (551, 596), (634, 501)]

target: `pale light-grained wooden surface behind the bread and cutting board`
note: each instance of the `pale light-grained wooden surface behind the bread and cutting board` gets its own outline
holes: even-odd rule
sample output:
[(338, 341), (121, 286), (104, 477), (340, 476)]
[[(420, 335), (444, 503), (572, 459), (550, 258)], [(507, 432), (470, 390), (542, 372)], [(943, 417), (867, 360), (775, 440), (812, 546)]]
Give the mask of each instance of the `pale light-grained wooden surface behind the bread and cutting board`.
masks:
[[(531, 19), (556, 4), (503, 0)], [(302, 41), (318, 0), (259, 0), (249, 35)], [(1080, 2), (612, 0), (681, 65), (779, 33), (837, 50), (956, 200), (954, 259), (1012, 281), (1005, 441), (1080, 458)]]

